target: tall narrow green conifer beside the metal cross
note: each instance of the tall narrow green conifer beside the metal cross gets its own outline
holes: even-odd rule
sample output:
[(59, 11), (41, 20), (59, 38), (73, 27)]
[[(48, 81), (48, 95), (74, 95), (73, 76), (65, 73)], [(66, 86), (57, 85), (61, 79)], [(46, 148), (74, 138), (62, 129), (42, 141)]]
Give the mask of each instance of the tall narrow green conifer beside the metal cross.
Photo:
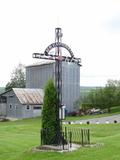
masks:
[[(42, 109), (42, 141), (44, 144), (58, 143), (58, 134), (60, 132), (59, 106), (57, 90), (52, 80), (49, 80), (45, 86), (45, 95)], [(47, 133), (47, 134), (46, 134)]]

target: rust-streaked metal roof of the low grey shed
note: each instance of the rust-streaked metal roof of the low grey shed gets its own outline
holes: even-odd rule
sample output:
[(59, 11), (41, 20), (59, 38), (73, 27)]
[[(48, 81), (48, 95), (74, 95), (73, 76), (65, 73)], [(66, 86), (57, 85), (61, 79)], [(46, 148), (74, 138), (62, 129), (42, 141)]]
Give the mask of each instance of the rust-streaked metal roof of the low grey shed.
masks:
[(13, 88), (21, 104), (42, 104), (44, 93), (42, 89)]

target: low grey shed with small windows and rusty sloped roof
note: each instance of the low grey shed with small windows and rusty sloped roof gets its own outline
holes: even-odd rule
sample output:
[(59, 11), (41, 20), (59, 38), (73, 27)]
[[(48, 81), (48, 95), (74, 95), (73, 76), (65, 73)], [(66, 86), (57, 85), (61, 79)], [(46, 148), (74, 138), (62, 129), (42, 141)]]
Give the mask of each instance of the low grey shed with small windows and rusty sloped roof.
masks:
[(43, 90), (13, 88), (1, 94), (0, 116), (8, 118), (30, 118), (41, 115)]

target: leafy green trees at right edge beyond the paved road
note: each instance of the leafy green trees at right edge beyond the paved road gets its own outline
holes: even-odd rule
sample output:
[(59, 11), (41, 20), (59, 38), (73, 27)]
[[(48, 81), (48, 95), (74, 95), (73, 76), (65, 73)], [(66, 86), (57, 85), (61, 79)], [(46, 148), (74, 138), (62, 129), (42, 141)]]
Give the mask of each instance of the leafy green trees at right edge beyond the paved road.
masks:
[(108, 80), (105, 87), (91, 90), (82, 103), (91, 104), (92, 108), (108, 109), (120, 105), (120, 81)]

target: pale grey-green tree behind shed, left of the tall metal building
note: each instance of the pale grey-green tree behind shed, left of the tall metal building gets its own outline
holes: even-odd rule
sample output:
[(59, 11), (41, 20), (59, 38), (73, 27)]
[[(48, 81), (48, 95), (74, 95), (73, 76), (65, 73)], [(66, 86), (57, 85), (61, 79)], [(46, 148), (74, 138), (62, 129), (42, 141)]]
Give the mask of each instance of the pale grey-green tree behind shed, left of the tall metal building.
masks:
[(10, 82), (6, 84), (5, 90), (9, 90), (11, 88), (25, 88), (25, 68), (22, 64), (19, 64), (17, 68), (15, 68), (11, 74)]

